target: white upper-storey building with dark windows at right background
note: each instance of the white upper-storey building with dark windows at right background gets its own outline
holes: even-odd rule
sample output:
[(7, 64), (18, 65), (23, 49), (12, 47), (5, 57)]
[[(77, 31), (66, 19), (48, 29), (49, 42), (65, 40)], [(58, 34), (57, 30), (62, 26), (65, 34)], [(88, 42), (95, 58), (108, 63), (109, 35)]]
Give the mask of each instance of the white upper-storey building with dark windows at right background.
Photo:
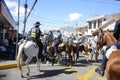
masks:
[(88, 23), (88, 34), (92, 35), (91, 32), (95, 32), (97, 29), (102, 28), (103, 30), (113, 30), (116, 21), (120, 18), (120, 13), (102, 15), (93, 17), (87, 20)]

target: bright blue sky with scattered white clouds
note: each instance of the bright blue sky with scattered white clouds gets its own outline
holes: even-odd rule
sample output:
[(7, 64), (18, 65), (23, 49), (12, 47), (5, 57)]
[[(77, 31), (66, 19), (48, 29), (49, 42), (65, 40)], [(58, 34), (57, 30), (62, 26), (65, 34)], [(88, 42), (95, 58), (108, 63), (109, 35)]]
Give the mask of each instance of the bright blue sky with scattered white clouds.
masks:
[[(29, 13), (35, 0), (20, 0), (19, 32), (24, 28), (24, 4), (27, 1)], [(18, 0), (5, 0), (14, 20), (18, 22)], [(61, 27), (84, 25), (93, 16), (108, 15), (120, 12), (120, 0), (37, 0), (27, 19), (25, 32), (28, 32), (36, 21), (41, 31), (60, 29)], [(18, 26), (16, 27), (18, 28)]]

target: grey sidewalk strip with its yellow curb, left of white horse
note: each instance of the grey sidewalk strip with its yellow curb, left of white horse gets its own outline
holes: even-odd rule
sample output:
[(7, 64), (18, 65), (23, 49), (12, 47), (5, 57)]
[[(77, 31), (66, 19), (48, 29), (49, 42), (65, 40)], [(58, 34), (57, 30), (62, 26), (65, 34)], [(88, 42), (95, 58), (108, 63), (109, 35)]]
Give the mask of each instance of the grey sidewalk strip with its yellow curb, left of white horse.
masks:
[(0, 60), (0, 70), (16, 68), (17, 62), (15, 60)]

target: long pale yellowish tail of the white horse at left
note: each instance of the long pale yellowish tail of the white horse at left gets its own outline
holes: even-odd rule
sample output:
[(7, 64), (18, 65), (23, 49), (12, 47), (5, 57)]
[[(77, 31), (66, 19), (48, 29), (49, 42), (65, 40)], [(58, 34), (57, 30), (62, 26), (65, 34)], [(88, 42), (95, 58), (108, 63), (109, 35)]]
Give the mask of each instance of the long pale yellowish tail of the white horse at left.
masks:
[(19, 46), (18, 55), (17, 55), (17, 67), (18, 67), (21, 75), (23, 75), (23, 73), (22, 73), (22, 66), (21, 66), (20, 58), (21, 58), (22, 53), (23, 53), (23, 48), (24, 48), (24, 46), (21, 44), (21, 45)]

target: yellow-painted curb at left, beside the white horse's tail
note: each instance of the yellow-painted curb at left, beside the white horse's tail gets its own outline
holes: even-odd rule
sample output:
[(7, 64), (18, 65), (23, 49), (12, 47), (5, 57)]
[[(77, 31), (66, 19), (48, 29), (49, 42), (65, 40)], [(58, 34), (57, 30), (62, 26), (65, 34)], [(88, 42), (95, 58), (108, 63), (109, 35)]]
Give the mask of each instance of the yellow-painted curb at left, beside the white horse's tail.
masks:
[[(25, 65), (25, 62), (22, 63), (22, 65)], [(9, 63), (2, 63), (0, 64), (0, 70), (2, 69), (10, 69), (10, 68), (16, 68), (17, 62), (9, 62)]]

